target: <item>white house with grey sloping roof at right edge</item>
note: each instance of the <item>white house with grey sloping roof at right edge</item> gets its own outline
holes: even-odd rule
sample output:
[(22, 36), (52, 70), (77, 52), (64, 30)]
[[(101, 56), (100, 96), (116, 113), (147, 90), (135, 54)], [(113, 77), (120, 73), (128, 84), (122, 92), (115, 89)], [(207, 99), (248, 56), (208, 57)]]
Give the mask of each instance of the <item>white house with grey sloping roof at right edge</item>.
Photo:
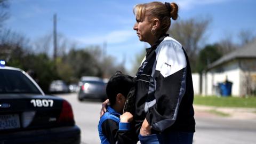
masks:
[(256, 39), (211, 63), (202, 76), (202, 95), (219, 95), (219, 83), (232, 83), (231, 95), (256, 94)]

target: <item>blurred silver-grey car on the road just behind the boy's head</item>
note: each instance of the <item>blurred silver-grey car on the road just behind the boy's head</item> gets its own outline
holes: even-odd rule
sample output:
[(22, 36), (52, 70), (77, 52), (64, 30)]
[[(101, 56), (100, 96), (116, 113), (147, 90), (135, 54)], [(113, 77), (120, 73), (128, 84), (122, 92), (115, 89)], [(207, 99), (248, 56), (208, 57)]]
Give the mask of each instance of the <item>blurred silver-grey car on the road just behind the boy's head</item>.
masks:
[(100, 99), (102, 101), (107, 99), (106, 83), (102, 78), (83, 76), (79, 82), (78, 100), (84, 99)]

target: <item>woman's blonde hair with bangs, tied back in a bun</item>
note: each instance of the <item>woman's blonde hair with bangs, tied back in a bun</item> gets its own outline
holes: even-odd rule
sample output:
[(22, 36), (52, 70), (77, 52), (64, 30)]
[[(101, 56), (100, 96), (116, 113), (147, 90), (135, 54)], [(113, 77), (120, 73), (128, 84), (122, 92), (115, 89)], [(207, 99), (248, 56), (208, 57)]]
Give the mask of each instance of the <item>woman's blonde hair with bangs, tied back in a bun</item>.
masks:
[[(167, 7), (166, 5), (169, 5)], [(147, 17), (149, 21), (157, 18), (160, 21), (160, 29), (158, 29), (158, 34), (166, 33), (171, 26), (171, 18), (176, 20), (178, 18), (178, 5), (175, 3), (161, 3), (161, 2), (151, 2), (145, 4), (135, 5), (133, 8), (133, 13), (136, 19), (144, 21)]]

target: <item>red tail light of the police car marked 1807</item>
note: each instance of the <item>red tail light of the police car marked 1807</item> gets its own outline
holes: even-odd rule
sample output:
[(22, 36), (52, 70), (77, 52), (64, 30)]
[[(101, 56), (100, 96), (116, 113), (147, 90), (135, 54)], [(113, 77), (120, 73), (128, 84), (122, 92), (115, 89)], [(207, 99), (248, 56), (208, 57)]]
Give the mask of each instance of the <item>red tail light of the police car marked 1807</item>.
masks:
[(60, 116), (58, 118), (58, 122), (59, 123), (70, 123), (70, 122), (74, 123), (74, 115), (73, 115), (71, 105), (66, 100), (64, 100), (62, 102), (62, 109), (61, 109)]

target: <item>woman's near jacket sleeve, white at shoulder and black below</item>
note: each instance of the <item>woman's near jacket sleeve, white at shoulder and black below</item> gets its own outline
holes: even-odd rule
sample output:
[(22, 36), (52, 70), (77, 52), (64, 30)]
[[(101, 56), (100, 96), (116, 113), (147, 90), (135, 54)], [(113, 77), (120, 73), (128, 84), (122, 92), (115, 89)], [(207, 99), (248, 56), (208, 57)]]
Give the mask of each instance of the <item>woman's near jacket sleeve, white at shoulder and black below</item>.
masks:
[(156, 51), (155, 99), (146, 119), (152, 129), (164, 131), (177, 119), (179, 105), (186, 91), (187, 61), (182, 46), (165, 41)]

